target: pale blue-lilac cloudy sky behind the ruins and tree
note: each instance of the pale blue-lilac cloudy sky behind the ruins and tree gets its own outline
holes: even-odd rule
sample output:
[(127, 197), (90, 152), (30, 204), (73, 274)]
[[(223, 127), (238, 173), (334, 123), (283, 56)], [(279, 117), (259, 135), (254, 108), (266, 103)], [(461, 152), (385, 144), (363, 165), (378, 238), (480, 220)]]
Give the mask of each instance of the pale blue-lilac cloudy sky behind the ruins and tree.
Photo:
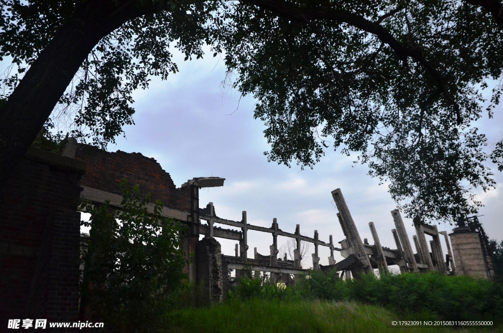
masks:
[[(167, 80), (153, 78), (148, 90), (134, 93), (135, 125), (126, 126), (127, 138), (117, 139), (108, 146), (109, 151), (141, 152), (154, 157), (162, 168), (170, 173), (177, 187), (194, 177), (223, 177), (220, 188), (200, 191), (200, 206), (213, 202), (215, 213), (225, 219), (240, 221), (241, 212), (247, 212), (247, 222), (270, 227), (273, 218), (279, 227), (294, 232), (300, 224), (302, 234), (313, 237), (318, 230), (320, 240), (328, 242), (344, 239), (337, 219), (337, 209), (330, 192), (340, 188), (359, 230), (360, 236), (373, 244), (369, 222), (373, 221), (381, 244), (396, 248), (391, 229), (395, 228), (391, 210), (396, 204), (387, 192), (387, 185), (367, 176), (366, 165), (355, 164), (355, 156), (346, 156), (327, 149), (325, 156), (313, 170), (291, 169), (275, 162), (268, 162), (264, 151), (269, 145), (264, 138), (265, 126), (253, 117), (255, 100), (240, 97), (232, 90), (223, 90), (225, 66), (218, 57), (183, 61), (182, 54), (175, 54), (180, 72)], [(502, 107), (495, 110), (494, 118), (487, 115), (477, 122), (490, 143), (501, 137)], [(503, 175), (489, 163), (496, 182), (503, 182)], [(479, 193), (479, 192), (476, 192)], [(503, 239), (501, 228), (503, 193), (499, 186), (478, 198), (485, 205), (480, 210), (480, 221), (490, 238)], [(204, 222), (204, 221), (203, 221)], [(412, 221), (404, 218), (410, 242), (415, 229)], [(439, 230), (450, 232), (449, 224), (438, 225)], [(429, 236), (427, 236), (427, 239)], [(235, 241), (218, 239), (222, 252), (234, 255)], [(279, 237), (279, 246), (287, 241)], [(447, 253), (443, 239), (444, 254)], [(269, 255), (272, 235), (248, 231), (248, 258), (253, 258), (254, 247), (263, 255)], [(413, 245), (412, 245), (413, 246)], [(305, 267), (312, 266), (310, 253)], [(414, 251), (415, 252), (415, 251)], [(329, 249), (319, 247), (320, 264), (328, 264)], [(336, 252), (336, 260), (343, 258)]]

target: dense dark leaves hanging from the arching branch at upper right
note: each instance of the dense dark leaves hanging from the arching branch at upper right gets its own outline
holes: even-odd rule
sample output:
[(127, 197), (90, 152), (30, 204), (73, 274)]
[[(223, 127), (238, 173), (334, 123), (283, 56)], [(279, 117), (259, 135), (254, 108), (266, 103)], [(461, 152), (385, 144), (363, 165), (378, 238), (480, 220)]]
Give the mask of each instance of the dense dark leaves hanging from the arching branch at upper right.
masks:
[(475, 213), (472, 190), (494, 182), (473, 122), (499, 103), (502, 86), (486, 79), (502, 74), (503, 26), (471, 4), (295, 1), (271, 13), (236, 3), (226, 64), (258, 100), (269, 161), (312, 168), (332, 145), (389, 180), (407, 217)]

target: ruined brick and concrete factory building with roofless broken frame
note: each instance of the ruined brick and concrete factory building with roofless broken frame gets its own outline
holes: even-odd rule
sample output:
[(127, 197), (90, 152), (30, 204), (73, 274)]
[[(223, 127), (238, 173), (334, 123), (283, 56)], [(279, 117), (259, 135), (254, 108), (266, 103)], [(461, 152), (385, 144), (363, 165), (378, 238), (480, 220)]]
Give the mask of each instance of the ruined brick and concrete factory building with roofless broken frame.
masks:
[[(227, 270), (243, 269), (269, 272), (271, 280), (293, 283), (308, 271), (301, 266), (300, 242), (314, 244), (312, 267), (314, 270), (335, 269), (341, 275), (373, 273), (373, 269), (386, 272), (389, 265), (398, 265), (402, 272), (438, 270), (449, 274), (466, 274), (490, 277), (490, 262), (480, 240), (481, 226), (460, 226), (448, 235), (438, 232), (436, 226), (423, 225), (413, 236), (416, 253), (398, 211), (392, 211), (396, 229), (393, 236), (396, 249), (381, 246), (373, 223), (370, 229), (374, 245), (362, 241), (340, 189), (332, 191), (339, 213), (337, 214), (346, 239), (341, 247), (334, 246), (332, 236), (321, 240), (314, 230), (313, 237), (280, 228), (272, 219), (270, 228), (247, 223), (246, 212), (240, 221), (217, 216), (212, 203), (200, 207), (199, 189), (222, 186), (223, 178), (194, 178), (177, 188), (171, 176), (159, 163), (140, 153), (107, 152), (77, 144), (69, 139), (61, 155), (30, 148), (15, 172), (0, 189), (0, 322), (12, 318), (46, 318), (48, 321), (77, 321), (79, 247), (79, 200), (104, 203), (120, 209), (122, 201), (120, 182), (127, 178), (129, 184), (139, 184), (140, 194), (151, 193), (152, 200), (164, 204), (162, 214), (173, 217), (189, 226), (183, 235), (183, 250), (194, 260), (186, 268), (189, 279), (204, 285), (200, 302), (219, 302), (224, 299), (229, 286)], [(153, 204), (152, 204), (153, 207)], [(205, 221), (201, 223), (201, 221)], [(230, 228), (215, 227), (214, 223)], [(234, 228), (234, 229), (232, 229)], [(237, 230), (236, 230), (237, 229)], [(247, 231), (256, 230), (272, 236), (270, 252), (262, 255), (255, 251), (247, 258)], [(426, 235), (431, 235), (430, 252)], [(441, 237), (443, 234), (444, 237)], [(204, 238), (201, 238), (204, 235)], [(293, 260), (278, 258), (277, 237), (295, 239), (297, 248)], [(478, 237), (478, 238), (477, 238)], [(234, 256), (221, 254), (216, 238), (233, 239)], [(447, 241), (449, 254), (444, 261), (440, 239)], [(482, 245), (481, 245), (482, 244)], [(318, 247), (330, 249), (328, 266), (319, 265)], [(346, 259), (336, 263), (334, 251)], [(456, 266), (454, 265), (456, 264)], [(450, 267), (450, 269), (449, 269)]]

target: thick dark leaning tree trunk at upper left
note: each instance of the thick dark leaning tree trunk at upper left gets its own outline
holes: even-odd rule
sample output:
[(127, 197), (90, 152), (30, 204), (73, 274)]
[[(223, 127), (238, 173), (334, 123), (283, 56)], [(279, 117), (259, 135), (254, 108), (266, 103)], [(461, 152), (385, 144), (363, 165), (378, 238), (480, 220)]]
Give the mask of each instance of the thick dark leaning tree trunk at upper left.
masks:
[(139, 3), (82, 2), (32, 63), (0, 113), (0, 187), (96, 44), (123, 23), (159, 9)]

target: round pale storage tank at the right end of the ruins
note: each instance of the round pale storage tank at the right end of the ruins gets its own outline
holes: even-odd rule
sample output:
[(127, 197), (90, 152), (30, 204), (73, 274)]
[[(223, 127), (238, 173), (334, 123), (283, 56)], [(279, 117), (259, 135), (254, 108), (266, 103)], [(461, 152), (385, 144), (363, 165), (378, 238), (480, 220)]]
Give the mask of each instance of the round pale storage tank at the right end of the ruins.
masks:
[(449, 236), (456, 273), (487, 279), (487, 269), (478, 232), (470, 230), (469, 227), (458, 227)]

